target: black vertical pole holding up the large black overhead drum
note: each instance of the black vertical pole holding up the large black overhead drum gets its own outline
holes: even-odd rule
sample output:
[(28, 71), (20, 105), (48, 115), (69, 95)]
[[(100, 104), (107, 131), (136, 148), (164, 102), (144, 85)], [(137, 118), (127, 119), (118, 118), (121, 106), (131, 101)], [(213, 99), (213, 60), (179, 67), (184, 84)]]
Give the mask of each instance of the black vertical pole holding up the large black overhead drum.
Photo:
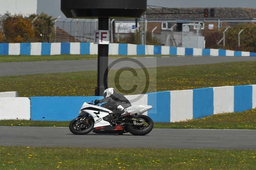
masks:
[[(108, 17), (99, 18), (99, 30), (108, 30)], [(103, 96), (108, 87), (104, 87), (104, 73), (108, 71), (108, 44), (98, 44), (98, 82), (95, 96)], [(107, 77), (105, 79), (108, 79)], [(106, 80), (106, 82), (108, 82)]]

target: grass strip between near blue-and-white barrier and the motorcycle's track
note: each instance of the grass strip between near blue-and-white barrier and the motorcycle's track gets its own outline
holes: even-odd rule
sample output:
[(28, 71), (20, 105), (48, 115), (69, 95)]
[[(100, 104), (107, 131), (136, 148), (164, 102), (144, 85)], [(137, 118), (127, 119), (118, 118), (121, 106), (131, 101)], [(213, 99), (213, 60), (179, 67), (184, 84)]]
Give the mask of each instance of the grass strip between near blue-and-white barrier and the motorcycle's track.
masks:
[[(68, 127), (69, 121), (0, 120), (0, 126)], [(154, 128), (175, 129), (256, 129), (256, 109), (212, 115), (175, 123), (154, 122)]]

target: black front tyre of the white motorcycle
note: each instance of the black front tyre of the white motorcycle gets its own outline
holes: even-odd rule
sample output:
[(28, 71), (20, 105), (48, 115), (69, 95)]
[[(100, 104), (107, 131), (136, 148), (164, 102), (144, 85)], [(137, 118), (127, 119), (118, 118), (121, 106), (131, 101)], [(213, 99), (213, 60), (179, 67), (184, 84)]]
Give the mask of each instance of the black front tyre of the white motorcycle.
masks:
[(88, 120), (89, 125), (86, 125), (85, 128), (75, 129), (74, 126), (76, 127), (76, 122), (79, 121), (80, 119), (82, 119), (82, 117), (78, 117), (69, 123), (70, 132), (72, 132), (75, 135), (86, 135), (90, 133), (94, 127), (94, 121), (92, 119), (89, 119)]

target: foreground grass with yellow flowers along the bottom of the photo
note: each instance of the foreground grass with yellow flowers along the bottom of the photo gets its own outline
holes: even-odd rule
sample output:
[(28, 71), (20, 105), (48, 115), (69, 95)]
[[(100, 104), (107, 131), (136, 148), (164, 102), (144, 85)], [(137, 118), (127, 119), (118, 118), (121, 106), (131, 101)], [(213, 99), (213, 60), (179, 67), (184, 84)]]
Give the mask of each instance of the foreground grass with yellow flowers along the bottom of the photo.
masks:
[(255, 169), (255, 150), (0, 148), (0, 169)]

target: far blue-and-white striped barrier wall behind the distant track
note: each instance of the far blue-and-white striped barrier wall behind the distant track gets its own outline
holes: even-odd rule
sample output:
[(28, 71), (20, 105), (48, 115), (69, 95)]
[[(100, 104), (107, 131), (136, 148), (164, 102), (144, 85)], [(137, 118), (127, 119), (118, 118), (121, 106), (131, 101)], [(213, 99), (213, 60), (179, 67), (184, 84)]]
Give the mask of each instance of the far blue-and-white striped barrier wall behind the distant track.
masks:
[[(19, 52), (13, 50), (18, 50), (18, 46), (12, 45), (9, 46), (8, 43), (0, 43), (0, 55), (9, 55), (9, 51), (12, 51), (12, 54), (21, 54), (21, 55), (31, 55), (30, 51), (33, 51), (33, 55), (58, 55), (58, 54), (97, 54), (98, 46), (93, 43), (79, 43), (80, 48), (77, 43), (71, 46), (71, 43), (54, 43), (55, 48), (51, 48), (51, 43), (40, 43), (31, 45), (32, 43), (20, 43)], [(135, 45), (135, 44), (134, 44)], [(116, 47), (116, 46), (115, 46)], [(11, 48), (11, 49), (10, 49)], [(72, 49), (71, 49), (72, 48)], [(129, 48), (129, 49), (128, 49)], [(164, 48), (164, 50), (162, 50)], [(150, 47), (151, 49), (151, 47)], [(51, 51), (53, 50), (53, 51)], [(59, 51), (60, 50), (60, 51)], [(71, 52), (72, 50), (72, 52)], [(118, 44), (118, 55), (127, 55), (128, 51), (132, 51), (132, 55), (145, 55), (146, 46), (145, 45), (136, 45), (136, 52), (133, 44), (128, 46), (128, 44)], [(113, 50), (112, 50), (113, 51)], [(133, 52), (134, 51), (134, 52)], [(131, 53), (131, 52), (130, 52)], [(153, 46), (153, 51), (149, 52), (154, 55), (166, 55), (167, 50), (163, 46), (155, 45)], [(198, 48), (183, 48), (183, 47), (170, 47), (170, 55), (185, 55), (185, 56), (226, 56), (227, 50), (223, 49), (198, 49)], [(242, 52), (242, 51), (231, 51), (228, 50), (228, 56), (253, 56), (256, 57), (255, 52)]]

